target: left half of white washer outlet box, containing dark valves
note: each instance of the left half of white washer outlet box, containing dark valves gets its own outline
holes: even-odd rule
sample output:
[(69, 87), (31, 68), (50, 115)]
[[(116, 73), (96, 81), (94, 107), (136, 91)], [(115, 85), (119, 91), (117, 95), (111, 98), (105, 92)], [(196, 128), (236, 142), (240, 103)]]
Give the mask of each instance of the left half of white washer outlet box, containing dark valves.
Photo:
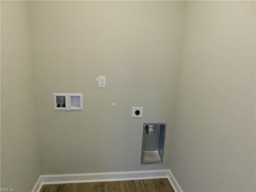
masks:
[(68, 110), (68, 94), (54, 93), (53, 94), (53, 107), (54, 111), (67, 111)]

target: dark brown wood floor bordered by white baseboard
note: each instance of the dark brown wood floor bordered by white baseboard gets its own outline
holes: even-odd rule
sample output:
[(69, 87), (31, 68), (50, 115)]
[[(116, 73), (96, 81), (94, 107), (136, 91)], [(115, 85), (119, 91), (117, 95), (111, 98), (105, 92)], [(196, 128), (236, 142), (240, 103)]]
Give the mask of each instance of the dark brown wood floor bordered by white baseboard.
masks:
[(43, 185), (40, 192), (174, 192), (167, 178)]

